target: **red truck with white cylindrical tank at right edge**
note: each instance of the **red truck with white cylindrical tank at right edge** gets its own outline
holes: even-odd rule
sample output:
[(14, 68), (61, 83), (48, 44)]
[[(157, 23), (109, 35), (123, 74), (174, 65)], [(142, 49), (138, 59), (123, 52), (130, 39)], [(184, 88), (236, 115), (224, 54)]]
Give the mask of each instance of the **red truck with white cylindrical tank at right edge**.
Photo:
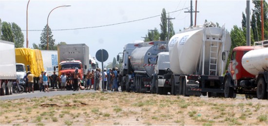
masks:
[(250, 98), (267, 99), (268, 40), (255, 42), (254, 46), (233, 48), (223, 83), (225, 97), (246, 94)]

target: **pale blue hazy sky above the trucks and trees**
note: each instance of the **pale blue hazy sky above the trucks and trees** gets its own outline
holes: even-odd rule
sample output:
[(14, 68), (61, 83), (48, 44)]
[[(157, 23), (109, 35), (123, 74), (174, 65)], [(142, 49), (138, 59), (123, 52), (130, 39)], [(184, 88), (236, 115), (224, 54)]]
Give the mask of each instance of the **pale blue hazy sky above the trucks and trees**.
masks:
[[(1, 20), (19, 25), (24, 34), (24, 47), (26, 47), (27, 3), (28, 0), (0, 0)], [(195, 10), (195, 0), (192, 3), (193, 10)], [(214, 23), (218, 22), (220, 26), (225, 24), (228, 31), (231, 31), (234, 25), (241, 27), (242, 12), (246, 12), (246, 3), (246, 0), (198, 0), (197, 11), (199, 13), (197, 13), (196, 24), (203, 25), (207, 19)], [(59, 7), (52, 11), (62, 5), (71, 6)], [(156, 28), (161, 32), (159, 25), (161, 16), (159, 15), (163, 8), (167, 13), (177, 11), (169, 14), (171, 18), (175, 18), (171, 20), (175, 32), (190, 26), (190, 13), (184, 13), (190, 10), (190, 0), (30, 0), (28, 6), (29, 47), (33, 47), (33, 43), (40, 44), (42, 30), (52, 11), (48, 25), (56, 44), (60, 42), (84, 43), (89, 47), (92, 57), (96, 56), (97, 50), (105, 49), (109, 53), (108, 60), (104, 62), (107, 65), (113, 62), (119, 52), (123, 51), (124, 45), (144, 40), (142, 37), (145, 37), (148, 30)], [(250, 0), (250, 9), (252, 8), (254, 4)], [(128, 23), (117, 24), (121, 22)], [(105, 26), (110, 24), (117, 25)]]

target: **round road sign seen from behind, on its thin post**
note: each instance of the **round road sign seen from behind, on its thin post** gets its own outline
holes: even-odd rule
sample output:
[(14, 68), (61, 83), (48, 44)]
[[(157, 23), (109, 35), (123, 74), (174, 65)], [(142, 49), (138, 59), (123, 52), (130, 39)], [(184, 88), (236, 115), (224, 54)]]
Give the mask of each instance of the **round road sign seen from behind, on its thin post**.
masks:
[(96, 59), (97, 61), (101, 62), (101, 68), (102, 68), (102, 91), (104, 92), (104, 73), (103, 73), (103, 62), (107, 61), (109, 57), (108, 52), (105, 49), (99, 49), (96, 52)]

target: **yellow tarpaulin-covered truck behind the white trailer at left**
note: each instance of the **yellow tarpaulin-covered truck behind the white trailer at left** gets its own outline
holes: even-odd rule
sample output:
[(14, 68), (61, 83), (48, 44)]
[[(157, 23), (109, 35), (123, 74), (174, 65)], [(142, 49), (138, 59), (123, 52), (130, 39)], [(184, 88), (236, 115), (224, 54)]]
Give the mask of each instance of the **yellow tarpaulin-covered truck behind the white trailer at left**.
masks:
[(34, 89), (39, 90), (38, 80), (42, 71), (44, 71), (42, 54), (39, 49), (16, 48), (16, 63), (23, 63), (30, 67), (30, 71), (34, 77)]

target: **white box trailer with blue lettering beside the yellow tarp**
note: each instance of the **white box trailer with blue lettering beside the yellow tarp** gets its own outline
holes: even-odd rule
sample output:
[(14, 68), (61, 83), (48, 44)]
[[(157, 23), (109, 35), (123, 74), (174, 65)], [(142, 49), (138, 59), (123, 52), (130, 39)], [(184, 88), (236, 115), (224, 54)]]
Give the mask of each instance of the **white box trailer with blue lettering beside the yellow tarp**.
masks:
[[(54, 72), (54, 67), (58, 65), (57, 63), (57, 50), (41, 50), (44, 69), (46, 73), (51, 76)], [(55, 70), (58, 74), (58, 69)]]

